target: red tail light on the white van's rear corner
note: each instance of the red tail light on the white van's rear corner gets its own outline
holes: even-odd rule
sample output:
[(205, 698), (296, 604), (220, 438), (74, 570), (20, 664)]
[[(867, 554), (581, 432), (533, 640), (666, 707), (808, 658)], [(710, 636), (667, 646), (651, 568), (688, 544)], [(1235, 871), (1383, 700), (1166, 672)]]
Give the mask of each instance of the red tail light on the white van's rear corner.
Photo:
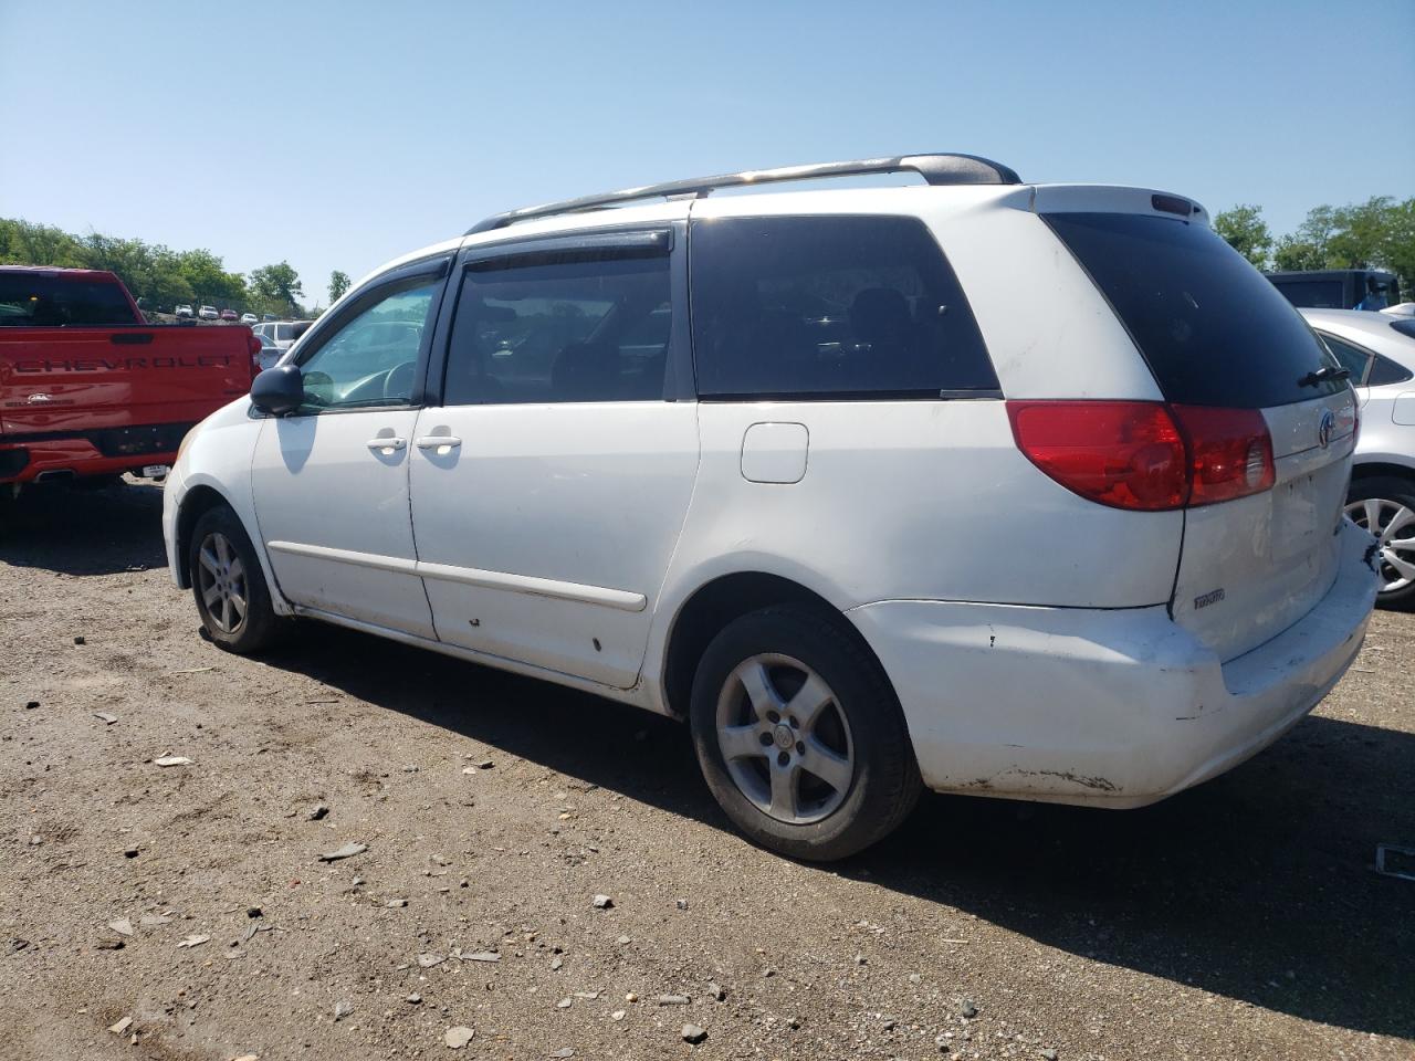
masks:
[(1272, 439), (1254, 409), (1162, 402), (1007, 402), (1017, 448), (1074, 494), (1159, 512), (1272, 487)]

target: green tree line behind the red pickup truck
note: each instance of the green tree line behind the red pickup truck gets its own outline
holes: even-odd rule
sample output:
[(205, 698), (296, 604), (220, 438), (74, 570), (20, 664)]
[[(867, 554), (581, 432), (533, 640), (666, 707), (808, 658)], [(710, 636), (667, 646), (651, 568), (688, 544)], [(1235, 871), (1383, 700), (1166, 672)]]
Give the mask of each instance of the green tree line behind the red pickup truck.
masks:
[[(215, 306), (238, 313), (303, 318), (318, 315), (300, 301), (304, 287), (289, 262), (228, 272), (219, 255), (207, 249), (173, 250), (161, 243), (91, 232), (76, 236), (54, 225), (0, 218), (0, 265), (108, 269), (132, 291), (144, 313), (171, 313), (174, 307)], [(347, 273), (330, 274), (330, 301), (348, 290)]]

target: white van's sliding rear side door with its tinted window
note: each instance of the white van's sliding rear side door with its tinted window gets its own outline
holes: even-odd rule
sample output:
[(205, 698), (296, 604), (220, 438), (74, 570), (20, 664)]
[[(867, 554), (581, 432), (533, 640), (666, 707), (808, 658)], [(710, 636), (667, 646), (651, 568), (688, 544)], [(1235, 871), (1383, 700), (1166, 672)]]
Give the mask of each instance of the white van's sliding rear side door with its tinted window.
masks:
[(437, 637), (627, 689), (698, 470), (682, 228), (471, 250), (417, 419)]

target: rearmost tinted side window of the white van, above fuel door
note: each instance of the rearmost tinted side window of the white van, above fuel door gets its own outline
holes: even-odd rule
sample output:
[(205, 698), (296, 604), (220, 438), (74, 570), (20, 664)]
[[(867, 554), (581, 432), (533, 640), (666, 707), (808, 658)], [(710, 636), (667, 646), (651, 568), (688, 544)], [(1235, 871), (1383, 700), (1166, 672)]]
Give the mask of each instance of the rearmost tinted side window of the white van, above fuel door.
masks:
[(952, 269), (913, 218), (720, 218), (689, 239), (703, 398), (998, 389)]

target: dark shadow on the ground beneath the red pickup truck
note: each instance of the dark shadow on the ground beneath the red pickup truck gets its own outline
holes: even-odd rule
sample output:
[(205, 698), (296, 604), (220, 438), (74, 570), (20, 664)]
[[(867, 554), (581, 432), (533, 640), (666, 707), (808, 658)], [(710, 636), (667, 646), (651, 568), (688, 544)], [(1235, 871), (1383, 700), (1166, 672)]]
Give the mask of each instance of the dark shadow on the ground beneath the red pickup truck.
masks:
[(161, 567), (163, 488), (27, 488), (0, 502), (0, 563), (81, 576)]

